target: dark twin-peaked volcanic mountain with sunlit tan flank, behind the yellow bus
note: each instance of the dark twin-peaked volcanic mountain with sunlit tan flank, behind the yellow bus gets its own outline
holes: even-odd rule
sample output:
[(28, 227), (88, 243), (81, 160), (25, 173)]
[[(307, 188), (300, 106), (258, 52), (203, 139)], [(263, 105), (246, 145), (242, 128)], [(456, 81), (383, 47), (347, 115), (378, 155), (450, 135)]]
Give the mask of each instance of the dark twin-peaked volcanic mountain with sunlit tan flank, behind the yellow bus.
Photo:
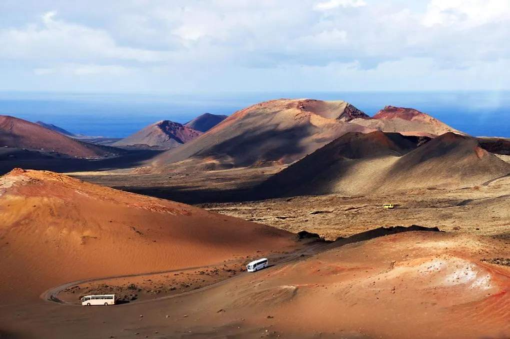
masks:
[[(349, 133), (257, 188), (260, 198), (364, 195), (419, 187), (465, 187), (510, 174), (510, 164), (452, 132), (427, 141), (398, 133)], [(425, 142), (425, 143), (424, 143)]]

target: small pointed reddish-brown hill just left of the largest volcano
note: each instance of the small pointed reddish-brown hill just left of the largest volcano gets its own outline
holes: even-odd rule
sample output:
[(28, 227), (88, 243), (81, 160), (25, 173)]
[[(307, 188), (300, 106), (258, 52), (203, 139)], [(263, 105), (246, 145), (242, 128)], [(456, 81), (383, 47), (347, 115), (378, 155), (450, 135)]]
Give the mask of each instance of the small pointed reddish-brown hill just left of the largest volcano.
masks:
[(127, 138), (114, 142), (112, 146), (172, 149), (197, 138), (201, 134), (202, 132), (191, 127), (174, 123), (170, 120), (162, 120), (145, 127)]

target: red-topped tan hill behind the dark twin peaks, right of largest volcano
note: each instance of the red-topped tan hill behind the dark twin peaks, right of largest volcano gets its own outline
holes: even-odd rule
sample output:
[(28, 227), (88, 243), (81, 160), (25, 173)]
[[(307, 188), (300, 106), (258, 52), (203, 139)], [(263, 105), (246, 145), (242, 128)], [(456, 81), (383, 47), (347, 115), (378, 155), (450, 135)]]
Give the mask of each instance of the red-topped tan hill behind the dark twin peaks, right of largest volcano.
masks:
[(354, 119), (353, 123), (383, 132), (436, 137), (448, 132), (463, 134), (438, 119), (412, 108), (386, 106), (372, 119)]

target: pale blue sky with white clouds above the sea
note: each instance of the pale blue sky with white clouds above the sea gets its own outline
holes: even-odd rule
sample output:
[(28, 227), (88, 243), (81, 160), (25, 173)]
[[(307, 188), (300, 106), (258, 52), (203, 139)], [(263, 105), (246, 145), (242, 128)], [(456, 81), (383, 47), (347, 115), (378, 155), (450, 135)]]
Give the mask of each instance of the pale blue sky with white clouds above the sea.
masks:
[(508, 0), (0, 0), (0, 90), (510, 89)]

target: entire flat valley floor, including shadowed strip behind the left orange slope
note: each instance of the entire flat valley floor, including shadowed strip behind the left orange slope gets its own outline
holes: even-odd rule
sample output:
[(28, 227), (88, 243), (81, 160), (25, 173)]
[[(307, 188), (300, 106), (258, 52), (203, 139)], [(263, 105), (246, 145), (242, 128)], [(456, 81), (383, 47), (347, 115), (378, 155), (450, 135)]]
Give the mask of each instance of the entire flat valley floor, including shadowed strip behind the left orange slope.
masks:
[[(439, 227), (444, 231), (510, 239), (510, 177), (462, 189), (435, 187), (366, 196), (333, 194), (251, 201), (250, 188), (280, 169), (72, 175), (101, 185), (195, 204), (291, 232), (318, 233), (329, 240), (397, 225)], [(382, 208), (385, 203), (392, 203), (395, 208)]]

